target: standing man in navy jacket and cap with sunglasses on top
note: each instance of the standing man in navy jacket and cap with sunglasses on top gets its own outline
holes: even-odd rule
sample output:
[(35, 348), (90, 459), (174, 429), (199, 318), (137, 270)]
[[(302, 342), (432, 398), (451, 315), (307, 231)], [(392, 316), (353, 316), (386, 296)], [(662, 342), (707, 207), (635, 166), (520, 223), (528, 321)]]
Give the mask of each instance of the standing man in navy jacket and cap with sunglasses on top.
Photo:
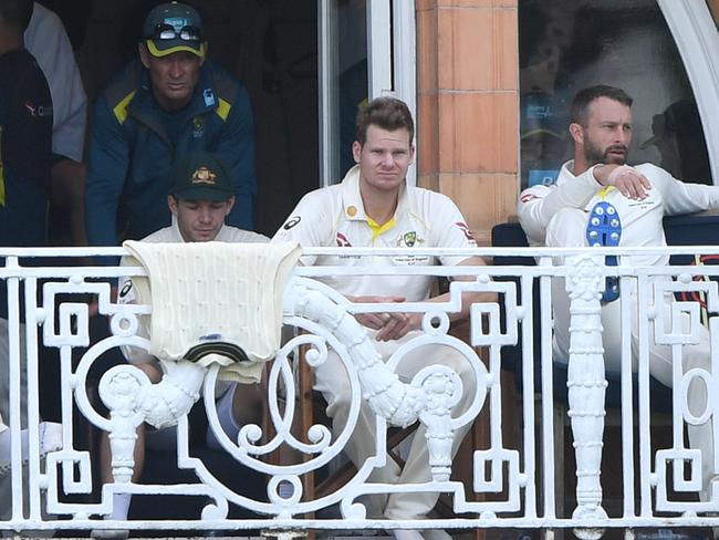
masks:
[(236, 202), (228, 225), (253, 228), (254, 129), (246, 89), (207, 59), (199, 13), (153, 9), (131, 63), (97, 100), (85, 193), (91, 246), (117, 246), (170, 224), (167, 175), (175, 157), (216, 153)]

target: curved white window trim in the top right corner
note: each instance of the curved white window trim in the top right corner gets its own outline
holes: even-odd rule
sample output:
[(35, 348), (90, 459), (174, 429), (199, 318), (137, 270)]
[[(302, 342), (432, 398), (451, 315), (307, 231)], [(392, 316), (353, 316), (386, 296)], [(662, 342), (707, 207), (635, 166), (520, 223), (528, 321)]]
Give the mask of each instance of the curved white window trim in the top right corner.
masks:
[[(704, 126), (709, 165), (719, 185), (719, 31), (704, 0), (657, 0), (677, 44)], [(713, 120), (713, 121), (712, 121)]]

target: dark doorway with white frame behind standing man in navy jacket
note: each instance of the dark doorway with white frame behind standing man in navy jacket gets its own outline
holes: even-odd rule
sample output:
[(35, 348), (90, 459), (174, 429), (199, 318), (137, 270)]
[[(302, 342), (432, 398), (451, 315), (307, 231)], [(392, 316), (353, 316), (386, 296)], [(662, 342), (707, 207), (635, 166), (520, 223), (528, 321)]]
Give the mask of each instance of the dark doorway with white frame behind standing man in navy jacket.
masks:
[[(414, 2), (185, 1), (202, 15), (209, 56), (238, 76), (252, 101), (259, 232), (272, 236), (304, 194), (338, 181), (353, 165), (354, 116), (368, 96), (398, 91), (414, 110), (414, 61), (393, 69), (393, 56), (407, 58), (407, 46), (414, 59)], [(66, 27), (84, 24), (73, 44), (92, 122), (95, 97), (136, 58), (145, 14), (159, 1), (44, 2)], [(392, 45), (393, 19), (405, 33), (410, 21), (406, 45)], [(411, 84), (397, 89), (403, 76)]]

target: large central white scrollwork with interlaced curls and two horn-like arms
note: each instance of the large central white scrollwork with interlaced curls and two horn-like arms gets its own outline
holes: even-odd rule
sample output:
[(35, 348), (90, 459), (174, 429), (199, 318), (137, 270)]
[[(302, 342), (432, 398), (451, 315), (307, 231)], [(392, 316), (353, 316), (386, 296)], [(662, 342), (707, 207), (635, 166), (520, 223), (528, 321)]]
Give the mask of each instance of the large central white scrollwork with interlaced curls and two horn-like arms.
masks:
[[(270, 381), (273, 383), (270, 388), (272, 395), (270, 403), (277, 398), (277, 382), (280, 373), (284, 373), (284, 387), (293, 388), (293, 382), (289, 376), (289, 356), (299, 343), (312, 345), (308, 351), (306, 359), (311, 365), (321, 363), (326, 357), (326, 343), (341, 354), (345, 354), (351, 361), (358, 387), (355, 388), (353, 413), (359, 407), (358, 395), (368, 402), (372, 409), (390, 425), (406, 427), (417, 420), (426, 426), (427, 445), (429, 449), (430, 469), (436, 482), (448, 482), (451, 474), (451, 446), (456, 429), (472, 422), (482, 406), (488, 386), (488, 373), (477, 354), (466, 344), (454, 338), (445, 335), (449, 326), (449, 320), (445, 313), (437, 312), (425, 316), (424, 328), (427, 333), (424, 338), (417, 338), (400, 347), (387, 364), (375, 350), (372, 340), (366, 331), (347, 311), (336, 301), (331, 300), (329, 294), (333, 291), (321, 283), (306, 279), (292, 280), (285, 290), (284, 311), (293, 318), (314, 323), (309, 326), (314, 334), (323, 336), (299, 336), (290, 342), (278, 353), (278, 360), (272, 368)], [(458, 293), (459, 294), (459, 293)], [(340, 299), (337, 299), (340, 300)], [(439, 321), (439, 323), (437, 323)], [(306, 324), (306, 323), (305, 323)], [(133, 329), (134, 323), (127, 322), (123, 332)], [(424, 344), (445, 341), (448, 346), (460, 349), (467, 361), (472, 366), (475, 376), (479, 384), (477, 395), (470, 399), (470, 406), (461, 415), (452, 417), (452, 407), (459, 402), (462, 395), (462, 383), (458, 375), (450, 368), (442, 365), (433, 365), (421, 370), (409, 383), (403, 383), (393, 372), (393, 365), (411, 349)], [(240, 463), (257, 470), (273, 475), (269, 484), (269, 503), (251, 501), (237, 494), (223, 494), (230, 502), (242, 503), (250, 508), (267, 512), (278, 513), (280, 517), (289, 517), (293, 513), (313, 511), (327, 503), (346, 498), (347, 512), (363, 511), (358, 507), (347, 506), (346, 502), (356, 497), (356, 486), (352, 484), (345, 489), (325, 498), (301, 502), (302, 484), (299, 475), (314, 470), (330, 459), (336, 457), (342, 450), (352, 430), (351, 422), (334, 445), (331, 444), (332, 435), (322, 425), (314, 425), (306, 434), (310, 444), (298, 440), (290, 432), (294, 396), (288, 396), (290, 409), (284, 415), (275, 407), (270, 408), (271, 418), (274, 420), (277, 430), (275, 437), (269, 443), (258, 445), (261, 440), (262, 429), (257, 425), (243, 426), (237, 442), (231, 442), (223, 434), (219, 426), (217, 412), (212, 405), (215, 399), (215, 383), (217, 370), (205, 368), (187, 361), (171, 363), (166, 366), (166, 375), (158, 384), (149, 384), (149, 381), (133, 366), (116, 366), (108, 371), (102, 378), (100, 396), (111, 411), (110, 440), (113, 454), (113, 474), (117, 482), (128, 482), (134, 466), (133, 447), (135, 429), (142, 422), (163, 428), (175, 425), (179, 418), (185, 416), (194, 403), (200, 397), (200, 387), (205, 382), (206, 408), (210, 424), (216, 429), (216, 435), (226, 450), (231, 453)], [(207, 376), (210, 374), (210, 376)], [(353, 374), (354, 378), (355, 375)], [(293, 392), (293, 391), (291, 391)], [(351, 418), (353, 417), (351, 413)], [(253, 456), (263, 456), (275, 450), (282, 444), (289, 444), (294, 449), (315, 455), (301, 464), (271, 464), (260, 460)], [(379, 443), (378, 454), (384, 448)], [(382, 456), (375, 465), (382, 465), (385, 457)], [(372, 467), (363, 467), (355, 484), (367, 479)], [(209, 474), (198, 472), (205, 481), (220, 488), (217, 479)], [(283, 497), (280, 495), (281, 482), (292, 485), (292, 495)], [(353, 489), (354, 488), (354, 489)]]

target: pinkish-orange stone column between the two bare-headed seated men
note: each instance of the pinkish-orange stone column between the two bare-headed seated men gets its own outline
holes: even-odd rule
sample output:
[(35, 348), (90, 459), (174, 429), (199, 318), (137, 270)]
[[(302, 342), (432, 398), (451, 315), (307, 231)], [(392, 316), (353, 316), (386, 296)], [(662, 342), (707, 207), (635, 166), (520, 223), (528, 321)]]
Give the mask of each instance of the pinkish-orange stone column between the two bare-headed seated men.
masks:
[(417, 0), (418, 184), (480, 245), (515, 214), (518, 81), (517, 0)]

